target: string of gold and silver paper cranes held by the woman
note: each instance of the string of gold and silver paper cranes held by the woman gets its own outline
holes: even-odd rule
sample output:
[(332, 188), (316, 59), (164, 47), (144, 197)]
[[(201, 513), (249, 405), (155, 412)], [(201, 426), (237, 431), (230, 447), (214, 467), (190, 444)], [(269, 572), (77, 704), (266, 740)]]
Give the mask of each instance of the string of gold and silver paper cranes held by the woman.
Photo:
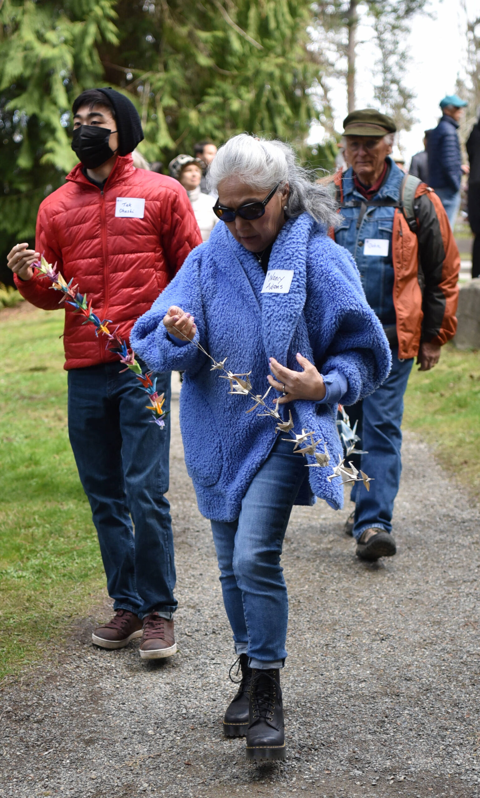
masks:
[[(177, 330), (180, 332), (180, 330)], [(289, 438), (282, 438), (282, 440), (287, 440), (288, 443), (295, 444), (293, 447), (294, 452), (298, 452), (303, 456), (311, 455), (315, 457), (315, 463), (307, 463), (307, 468), (326, 468), (330, 465), (330, 455), (327, 452), (327, 444), (323, 439), (314, 440), (313, 436), (315, 433), (307, 433), (304, 429), (302, 429), (302, 434), (297, 435), (293, 430), (294, 424), (292, 419), (292, 410), (288, 410), (288, 421), (284, 421), (280, 416), (280, 413), (276, 408), (272, 408), (267, 405), (265, 401), (268, 397), (268, 394), (272, 390), (272, 385), (268, 388), (268, 391), (261, 396), (260, 393), (253, 393), (252, 392), (252, 383), (250, 381), (250, 374), (251, 371), (234, 374), (232, 371), (228, 371), (225, 369), (225, 363), (227, 362), (228, 358), (224, 358), (222, 361), (216, 361), (212, 358), (211, 354), (208, 354), (204, 347), (201, 346), (199, 342), (190, 341), (186, 335), (180, 332), (180, 334), (185, 338), (187, 341), (196, 346), (197, 350), (203, 352), (203, 354), (208, 358), (208, 360), (212, 361), (212, 368), (210, 371), (220, 371), (224, 372), (220, 374), (220, 379), (228, 380), (230, 383), (230, 393), (232, 396), (245, 396), (250, 397), (254, 401), (254, 404), (251, 408), (249, 408), (246, 413), (252, 413), (254, 410), (261, 408), (263, 413), (257, 413), (258, 416), (268, 416), (276, 421), (276, 433), (292, 433), (294, 437)], [(331, 465), (333, 473), (328, 474), (327, 480), (331, 482), (331, 480), (335, 480), (336, 478), (342, 480), (343, 484), (347, 484), (349, 482), (363, 482), (367, 491), (370, 490), (369, 483), (372, 481), (366, 473), (364, 473), (361, 469), (357, 470), (354, 464), (351, 461), (348, 461), (348, 465), (345, 465), (345, 459), (350, 456), (351, 454), (367, 454), (367, 452), (363, 452), (359, 449), (355, 448), (355, 444), (359, 442), (359, 436), (356, 434), (357, 429), (357, 422), (355, 421), (354, 428), (351, 429), (350, 419), (345, 413), (345, 409), (342, 405), (339, 405), (339, 410), (342, 415), (342, 418), (337, 421), (337, 426), (339, 427), (339, 436), (342, 440), (343, 447), (345, 448), (345, 457), (343, 460), (339, 456), (339, 463), (337, 465)], [(317, 452), (317, 448), (323, 441), (323, 452)], [(305, 444), (302, 446), (302, 444)]]

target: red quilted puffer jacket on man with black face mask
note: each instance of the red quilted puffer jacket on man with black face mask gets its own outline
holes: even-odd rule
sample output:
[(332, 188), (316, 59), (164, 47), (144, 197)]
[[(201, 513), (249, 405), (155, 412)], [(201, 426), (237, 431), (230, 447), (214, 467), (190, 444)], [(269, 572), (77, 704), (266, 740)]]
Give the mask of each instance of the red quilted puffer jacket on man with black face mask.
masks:
[[(177, 180), (134, 168), (131, 155), (117, 158), (103, 191), (86, 179), (81, 164), (66, 180), (39, 208), (35, 248), (128, 340), (137, 318), (201, 243), (187, 192)], [(128, 199), (137, 202), (123, 201)], [(83, 326), (84, 317), (73, 307), (59, 306), (59, 294), (47, 279), (22, 281), (15, 275), (15, 282), (37, 307), (65, 307), (65, 369), (117, 359), (105, 350), (105, 337), (96, 338), (92, 324)]]

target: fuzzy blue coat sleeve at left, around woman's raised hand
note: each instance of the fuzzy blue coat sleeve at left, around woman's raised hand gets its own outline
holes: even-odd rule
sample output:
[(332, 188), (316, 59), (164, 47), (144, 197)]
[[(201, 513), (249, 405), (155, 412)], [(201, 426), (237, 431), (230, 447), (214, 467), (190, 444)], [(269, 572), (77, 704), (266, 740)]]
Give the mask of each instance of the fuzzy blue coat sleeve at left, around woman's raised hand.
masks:
[[(195, 343), (206, 345), (204, 340), (204, 310), (200, 290), (201, 250), (189, 255), (177, 276), (153, 302), (153, 306), (141, 316), (130, 333), (130, 344), (149, 369), (155, 371), (187, 371), (196, 373), (206, 360)], [(194, 342), (177, 346), (170, 338), (163, 318), (169, 307), (177, 305), (195, 317)]]

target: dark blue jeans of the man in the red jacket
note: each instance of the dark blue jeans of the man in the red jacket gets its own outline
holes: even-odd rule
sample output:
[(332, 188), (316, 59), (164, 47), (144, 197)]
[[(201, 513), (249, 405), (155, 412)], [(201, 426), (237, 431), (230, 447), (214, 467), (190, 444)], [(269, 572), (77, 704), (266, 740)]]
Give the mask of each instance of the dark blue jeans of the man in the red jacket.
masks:
[[(119, 362), (69, 370), (70, 444), (114, 609), (170, 618), (177, 608), (172, 519), (164, 496), (170, 417), (165, 429), (151, 424), (146, 393), (130, 370), (120, 372)], [(170, 373), (153, 376), (169, 408)]]

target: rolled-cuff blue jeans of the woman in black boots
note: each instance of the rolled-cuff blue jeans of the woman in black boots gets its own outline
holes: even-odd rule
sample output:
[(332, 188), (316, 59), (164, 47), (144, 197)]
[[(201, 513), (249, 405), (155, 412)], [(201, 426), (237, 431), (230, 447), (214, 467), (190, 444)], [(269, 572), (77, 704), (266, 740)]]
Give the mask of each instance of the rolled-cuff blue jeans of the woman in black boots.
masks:
[(237, 654), (252, 668), (281, 668), (287, 656), (288, 596), (280, 555), (305, 459), (279, 437), (254, 476), (235, 521), (212, 521), (225, 610)]

